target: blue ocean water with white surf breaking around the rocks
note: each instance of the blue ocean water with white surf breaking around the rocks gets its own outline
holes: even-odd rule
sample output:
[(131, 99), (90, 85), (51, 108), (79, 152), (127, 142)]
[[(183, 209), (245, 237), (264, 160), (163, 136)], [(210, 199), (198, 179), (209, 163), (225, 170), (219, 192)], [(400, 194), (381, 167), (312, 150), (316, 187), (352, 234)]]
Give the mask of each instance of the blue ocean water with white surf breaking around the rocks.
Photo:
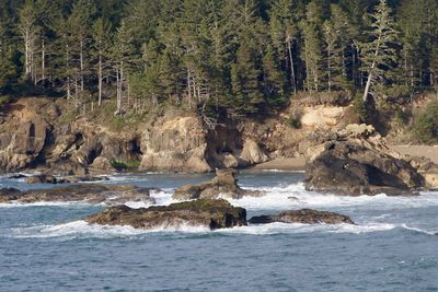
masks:
[[(175, 187), (210, 177), (118, 175), (107, 184), (160, 187), (152, 196), (168, 205)], [(249, 218), (312, 208), (357, 225), (139, 231), (87, 224), (103, 206), (0, 205), (0, 291), (438, 291), (437, 192), (345, 198), (308, 192), (302, 178), (243, 172), (244, 188), (267, 195), (231, 202)], [(2, 176), (1, 187), (30, 186)]]

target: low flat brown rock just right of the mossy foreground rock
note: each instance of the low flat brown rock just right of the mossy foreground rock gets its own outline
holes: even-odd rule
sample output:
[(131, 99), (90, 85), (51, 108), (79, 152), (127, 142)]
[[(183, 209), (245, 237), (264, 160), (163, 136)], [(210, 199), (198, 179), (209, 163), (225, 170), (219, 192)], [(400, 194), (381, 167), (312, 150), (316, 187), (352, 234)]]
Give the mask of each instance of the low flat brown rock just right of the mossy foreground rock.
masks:
[(283, 211), (277, 215), (253, 217), (249, 221), (251, 224), (267, 224), (274, 222), (280, 223), (302, 223), (302, 224), (355, 224), (347, 215), (342, 215), (325, 211), (315, 211), (310, 209)]

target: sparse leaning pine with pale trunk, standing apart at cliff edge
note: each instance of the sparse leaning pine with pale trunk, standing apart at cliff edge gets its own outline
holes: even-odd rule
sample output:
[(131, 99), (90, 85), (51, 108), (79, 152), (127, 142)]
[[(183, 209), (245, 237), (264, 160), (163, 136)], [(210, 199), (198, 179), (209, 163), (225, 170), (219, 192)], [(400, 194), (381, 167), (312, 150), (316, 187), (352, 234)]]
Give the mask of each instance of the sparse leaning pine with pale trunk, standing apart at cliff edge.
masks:
[(374, 13), (370, 15), (371, 31), (369, 42), (361, 44), (362, 70), (367, 73), (367, 83), (362, 100), (368, 101), (372, 84), (384, 79), (385, 71), (396, 61), (396, 51), (393, 47), (397, 32), (391, 15), (391, 8), (385, 0), (380, 0)]

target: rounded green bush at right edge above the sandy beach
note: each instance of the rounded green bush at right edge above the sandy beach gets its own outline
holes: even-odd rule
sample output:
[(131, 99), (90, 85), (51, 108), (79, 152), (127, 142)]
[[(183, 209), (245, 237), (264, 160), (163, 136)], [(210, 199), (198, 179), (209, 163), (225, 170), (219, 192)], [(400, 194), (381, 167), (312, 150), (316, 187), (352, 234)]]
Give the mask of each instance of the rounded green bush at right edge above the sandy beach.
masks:
[(412, 132), (414, 138), (422, 143), (438, 141), (438, 102), (430, 103), (414, 118)]

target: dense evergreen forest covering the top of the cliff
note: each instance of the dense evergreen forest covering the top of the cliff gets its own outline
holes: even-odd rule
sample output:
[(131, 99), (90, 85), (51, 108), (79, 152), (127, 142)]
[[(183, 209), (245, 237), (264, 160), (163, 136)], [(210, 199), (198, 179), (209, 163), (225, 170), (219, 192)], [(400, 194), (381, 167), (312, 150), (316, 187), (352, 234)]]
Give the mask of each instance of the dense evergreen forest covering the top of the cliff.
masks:
[(437, 0), (0, 0), (3, 94), (239, 117), (437, 86)]

